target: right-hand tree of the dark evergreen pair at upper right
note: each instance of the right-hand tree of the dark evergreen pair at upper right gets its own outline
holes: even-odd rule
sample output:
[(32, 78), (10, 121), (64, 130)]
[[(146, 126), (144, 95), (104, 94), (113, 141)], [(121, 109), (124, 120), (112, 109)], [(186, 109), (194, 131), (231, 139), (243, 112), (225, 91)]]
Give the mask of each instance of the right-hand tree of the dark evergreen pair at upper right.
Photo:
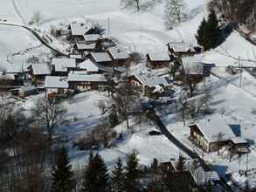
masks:
[(219, 44), (220, 31), (218, 29), (218, 19), (214, 10), (211, 10), (205, 32), (204, 50), (215, 48)]

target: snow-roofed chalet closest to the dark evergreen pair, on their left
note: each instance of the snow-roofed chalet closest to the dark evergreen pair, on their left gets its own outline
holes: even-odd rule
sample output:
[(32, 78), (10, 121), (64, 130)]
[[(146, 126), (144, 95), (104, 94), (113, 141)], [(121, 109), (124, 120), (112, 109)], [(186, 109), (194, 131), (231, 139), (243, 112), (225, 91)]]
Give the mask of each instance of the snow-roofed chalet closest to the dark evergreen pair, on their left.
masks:
[(184, 42), (170, 42), (167, 47), (172, 57), (188, 57), (196, 54), (194, 47)]

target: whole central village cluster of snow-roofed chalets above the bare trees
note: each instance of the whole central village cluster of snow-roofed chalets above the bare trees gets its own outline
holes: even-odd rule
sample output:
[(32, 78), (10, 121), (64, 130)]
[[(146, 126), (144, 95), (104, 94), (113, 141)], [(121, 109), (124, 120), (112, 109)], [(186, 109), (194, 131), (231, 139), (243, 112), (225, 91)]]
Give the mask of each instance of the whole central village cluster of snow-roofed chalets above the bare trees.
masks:
[[(0, 79), (3, 77), (9, 79), (11, 76), (8, 83), (11, 87), (10, 91), (20, 97), (36, 93), (38, 89), (45, 90), (46, 96), (53, 97), (69, 93), (71, 90), (77, 92), (105, 91), (113, 77), (119, 79), (121, 74), (126, 72), (125, 65), (130, 61), (131, 56), (128, 51), (115, 45), (111, 38), (97, 32), (99, 29), (95, 29), (92, 24), (73, 22), (68, 29), (60, 31), (60, 34), (70, 38), (72, 49), (69, 57), (59, 56), (52, 58), (51, 62), (33, 63), (20, 72), (7, 71), (0, 76)], [(139, 90), (147, 96), (169, 90), (170, 78), (158, 76), (152, 70), (169, 67), (175, 57), (183, 57), (186, 59), (184, 64), (190, 65), (194, 62), (194, 55), (198, 52), (184, 42), (169, 43), (166, 51), (147, 54), (147, 65), (150, 71), (133, 72), (129, 74), (128, 82), (138, 86)], [(192, 59), (191, 62), (190, 59)], [(196, 62), (199, 68), (203, 67), (200, 58)], [(184, 67), (186, 68), (187, 65)], [(197, 75), (203, 75), (201, 68), (197, 70)], [(186, 72), (191, 75), (195, 74), (189, 70)], [(30, 86), (20, 85), (20, 76), (24, 73), (25, 81), (28, 82), (30, 79), (30, 83), (27, 84)]]

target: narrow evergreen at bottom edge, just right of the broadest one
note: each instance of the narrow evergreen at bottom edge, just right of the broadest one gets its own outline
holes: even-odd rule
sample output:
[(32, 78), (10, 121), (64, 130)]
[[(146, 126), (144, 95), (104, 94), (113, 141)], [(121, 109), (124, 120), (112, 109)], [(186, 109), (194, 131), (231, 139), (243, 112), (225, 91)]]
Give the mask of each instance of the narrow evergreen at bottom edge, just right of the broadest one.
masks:
[(125, 175), (121, 158), (118, 158), (112, 170), (112, 191), (122, 192), (125, 189)]

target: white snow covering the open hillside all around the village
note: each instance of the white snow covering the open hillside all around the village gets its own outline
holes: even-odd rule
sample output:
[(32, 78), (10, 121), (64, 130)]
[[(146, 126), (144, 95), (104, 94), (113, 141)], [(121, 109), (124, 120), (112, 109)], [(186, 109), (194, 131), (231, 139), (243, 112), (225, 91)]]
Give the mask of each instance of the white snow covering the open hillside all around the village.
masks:
[[(142, 5), (149, 2), (150, 0), (143, 0)], [(35, 28), (35, 31), (39, 31), (38, 34), (46, 34), (45, 37), (48, 37), (52, 26), (58, 28), (61, 24), (69, 24), (72, 21), (91, 21), (93, 24), (100, 24), (106, 29), (106, 33), (109, 30), (110, 37), (128, 52), (142, 53), (144, 60), (144, 56), (150, 51), (167, 51), (168, 42), (184, 41), (190, 45), (197, 45), (195, 34), (202, 19), (208, 15), (206, 8), (208, 0), (185, 0), (184, 2), (187, 19), (167, 31), (164, 25), (164, 0), (158, 1), (148, 9), (142, 9), (139, 13), (122, 10), (120, 0), (1, 0), (0, 70), (9, 72), (24, 70), (27, 67), (26, 60), (35, 55), (42, 62), (49, 61), (47, 59), (50, 58), (51, 51), (42, 45), (31, 31), (23, 28), (36, 12), (40, 12), (42, 20), (38, 26), (32, 25), (31, 29)], [(107, 29), (108, 18), (109, 29)], [(21, 26), (6, 25), (13, 23)], [(65, 43), (52, 39), (59, 50), (66, 49)], [(246, 70), (235, 75), (225, 71), (228, 65), (256, 66), (254, 62), (256, 46), (246, 41), (239, 32), (233, 31), (222, 45), (214, 50), (205, 51), (202, 56), (204, 63), (217, 66), (211, 70), (211, 76), (204, 82), (211, 87), (211, 107), (215, 113), (221, 113), (229, 123), (241, 126), (241, 136), (250, 141), (253, 146), (249, 157), (249, 168), (256, 168), (254, 122), (256, 116), (252, 113), (256, 107), (256, 79)], [(141, 63), (136, 69), (144, 70), (144, 67), (145, 64)], [(90, 128), (97, 126), (104, 117), (105, 114), (100, 112), (97, 105), (100, 100), (108, 104), (107, 99), (109, 99), (107, 93), (88, 92), (76, 95), (73, 103), (65, 101), (63, 104), (67, 108), (66, 120), (70, 120), (71, 123), (59, 127), (58, 132), (65, 135), (67, 141), (86, 136)], [(35, 98), (29, 97), (23, 103), (20, 102), (20, 105), (24, 110), (29, 110), (35, 102)], [(188, 140), (190, 130), (183, 126), (181, 120), (174, 120), (173, 114), (169, 113), (164, 113), (162, 118), (171, 134), (191, 150), (199, 151)], [(131, 121), (132, 127), (136, 130), (135, 134), (128, 134), (127, 130), (123, 130), (125, 122), (121, 122), (115, 129), (117, 134), (124, 132), (124, 140), (115, 141), (114, 147), (100, 150), (109, 168), (113, 167), (118, 157), (125, 159), (126, 154), (135, 148), (139, 151), (138, 157), (143, 165), (150, 165), (153, 158), (169, 161), (170, 158), (177, 158), (179, 154), (183, 154), (163, 134), (149, 137), (149, 132), (156, 130), (155, 126), (145, 124), (141, 129), (133, 120)], [(70, 149), (74, 166), (82, 165), (88, 154), (87, 151)], [(188, 155), (183, 155), (189, 158)], [(219, 158), (216, 154), (206, 154), (202, 158), (210, 162), (213, 169), (220, 175), (237, 173), (239, 169), (245, 169), (247, 161), (246, 156), (242, 156), (241, 159), (235, 159), (230, 163), (227, 158)]]

